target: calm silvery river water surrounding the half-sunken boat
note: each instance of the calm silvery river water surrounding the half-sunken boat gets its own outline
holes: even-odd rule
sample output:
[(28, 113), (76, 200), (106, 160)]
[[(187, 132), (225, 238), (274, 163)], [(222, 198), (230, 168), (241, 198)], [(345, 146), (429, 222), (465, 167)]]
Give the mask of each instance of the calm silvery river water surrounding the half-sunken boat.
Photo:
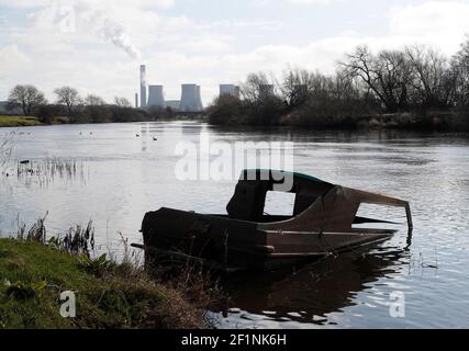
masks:
[[(97, 248), (122, 250), (118, 233), (141, 242), (143, 215), (161, 206), (225, 213), (236, 179), (182, 180), (176, 148), (211, 141), (290, 141), (294, 170), (412, 203), (405, 226), (366, 253), (330, 258), (292, 272), (234, 276), (220, 328), (469, 327), (469, 137), (401, 132), (220, 129), (143, 123), (1, 129), (13, 137), (1, 173), (0, 230), (14, 235), (46, 213), (49, 235), (93, 220)], [(138, 137), (137, 137), (138, 135)], [(181, 144), (182, 143), (182, 144)], [(14, 161), (13, 161), (14, 160)], [(42, 169), (18, 174), (15, 161)], [(51, 170), (46, 165), (72, 165)], [(235, 174), (238, 169), (233, 170)], [(281, 207), (282, 204), (278, 204)], [(282, 208), (277, 208), (282, 210)], [(403, 213), (380, 214), (405, 222)]]

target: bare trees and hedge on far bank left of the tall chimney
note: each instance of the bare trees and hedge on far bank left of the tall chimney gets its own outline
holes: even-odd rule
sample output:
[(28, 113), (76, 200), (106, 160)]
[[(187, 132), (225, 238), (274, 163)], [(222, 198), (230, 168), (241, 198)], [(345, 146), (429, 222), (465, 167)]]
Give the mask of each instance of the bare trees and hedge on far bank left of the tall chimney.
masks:
[(115, 97), (109, 104), (99, 95), (88, 94), (81, 98), (78, 90), (62, 87), (54, 90), (56, 100), (48, 103), (45, 95), (31, 84), (14, 87), (8, 99), (10, 111), (21, 111), (25, 116), (36, 116), (45, 124), (63, 123), (108, 123), (141, 122), (170, 116), (170, 109), (133, 109), (126, 98)]

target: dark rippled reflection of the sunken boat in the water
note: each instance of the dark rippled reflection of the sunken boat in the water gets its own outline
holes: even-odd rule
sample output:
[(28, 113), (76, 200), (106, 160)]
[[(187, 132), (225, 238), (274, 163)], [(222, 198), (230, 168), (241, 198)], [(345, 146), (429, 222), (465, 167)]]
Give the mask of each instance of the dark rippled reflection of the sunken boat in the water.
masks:
[(357, 305), (355, 297), (368, 290), (370, 283), (399, 271), (406, 262), (406, 254), (405, 250), (349, 252), (326, 258), (294, 274), (278, 271), (232, 276), (224, 283), (230, 296), (227, 307), (239, 313), (223, 314), (232, 320), (249, 320), (256, 315), (279, 322), (323, 325), (326, 315)]

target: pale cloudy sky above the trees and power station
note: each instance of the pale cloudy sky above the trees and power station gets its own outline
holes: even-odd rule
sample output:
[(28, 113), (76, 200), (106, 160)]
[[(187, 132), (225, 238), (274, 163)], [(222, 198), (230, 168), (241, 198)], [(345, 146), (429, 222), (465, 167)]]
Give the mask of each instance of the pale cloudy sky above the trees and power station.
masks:
[(131, 102), (139, 65), (167, 100), (201, 84), (289, 68), (332, 73), (358, 45), (431, 45), (454, 55), (469, 34), (469, 0), (0, 0), (0, 100), (31, 83), (54, 101), (71, 86)]

